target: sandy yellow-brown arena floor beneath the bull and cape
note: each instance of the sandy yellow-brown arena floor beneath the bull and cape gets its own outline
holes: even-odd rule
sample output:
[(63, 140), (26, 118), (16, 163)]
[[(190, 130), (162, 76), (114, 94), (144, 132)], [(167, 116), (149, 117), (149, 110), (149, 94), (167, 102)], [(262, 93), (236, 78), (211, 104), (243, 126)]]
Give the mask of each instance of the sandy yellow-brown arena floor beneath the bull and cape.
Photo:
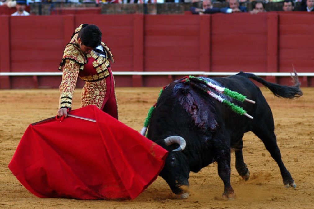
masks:
[[(160, 88), (117, 88), (119, 119), (140, 131), (147, 111)], [(39, 198), (27, 191), (8, 169), (14, 151), (30, 123), (56, 114), (59, 92), (53, 90), (0, 90), (0, 208), (314, 208), (314, 88), (303, 88), (296, 100), (274, 97), (262, 87), (273, 110), (275, 133), (282, 159), (297, 185), (285, 188), (275, 161), (252, 133), (244, 137), (244, 158), (251, 177), (237, 174), (232, 155), (231, 184), (236, 200), (223, 201), (223, 183), (217, 164), (190, 175), (190, 197), (172, 198), (166, 182), (158, 177), (133, 201), (82, 201)], [(74, 93), (79, 107), (80, 90)]]

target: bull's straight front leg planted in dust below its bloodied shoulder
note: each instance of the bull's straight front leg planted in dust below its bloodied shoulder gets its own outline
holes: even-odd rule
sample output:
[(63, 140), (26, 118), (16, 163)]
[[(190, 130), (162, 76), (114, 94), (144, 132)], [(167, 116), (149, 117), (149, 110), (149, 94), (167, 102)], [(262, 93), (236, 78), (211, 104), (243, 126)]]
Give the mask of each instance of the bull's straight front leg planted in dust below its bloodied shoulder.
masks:
[(225, 199), (232, 200), (236, 198), (236, 194), (231, 187), (230, 184), (230, 174), (231, 174), (231, 168), (230, 168), (230, 149), (221, 149), (216, 150), (216, 156), (215, 160), (218, 164), (218, 175), (221, 178), (221, 180), (224, 182), (224, 193), (222, 196)]

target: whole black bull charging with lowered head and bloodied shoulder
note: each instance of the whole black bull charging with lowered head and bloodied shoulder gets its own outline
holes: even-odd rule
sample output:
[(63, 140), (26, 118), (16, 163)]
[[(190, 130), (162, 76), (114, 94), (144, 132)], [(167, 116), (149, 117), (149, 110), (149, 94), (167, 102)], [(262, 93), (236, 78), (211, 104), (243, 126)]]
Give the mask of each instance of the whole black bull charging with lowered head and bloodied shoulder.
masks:
[[(242, 155), (242, 137), (249, 131), (263, 141), (277, 162), (284, 185), (296, 187), (281, 159), (271, 109), (260, 89), (249, 78), (262, 83), (278, 97), (292, 99), (302, 95), (296, 74), (293, 77), (294, 86), (270, 83), (254, 74), (243, 72), (229, 77), (211, 78), (220, 86), (237, 91), (256, 102), (236, 102), (229, 98), (254, 117), (250, 119), (232, 112), (229, 107), (196, 88), (196, 85), (182, 82), (182, 79), (170, 83), (160, 94), (151, 116), (147, 137), (169, 151), (160, 176), (181, 198), (188, 197), (190, 171), (197, 173), (214, 161), (218, 164), (219, 177), (224, 182), (223, 197), (235, 198), (230, 185), (230, 152), (231, 149), (235, 150), (236, 170), (243, 179), (248, 180), (250, 173)], [(173, 151), (178, 145), (163, 140), (172, 135), (185, 139), (184, 150)]]

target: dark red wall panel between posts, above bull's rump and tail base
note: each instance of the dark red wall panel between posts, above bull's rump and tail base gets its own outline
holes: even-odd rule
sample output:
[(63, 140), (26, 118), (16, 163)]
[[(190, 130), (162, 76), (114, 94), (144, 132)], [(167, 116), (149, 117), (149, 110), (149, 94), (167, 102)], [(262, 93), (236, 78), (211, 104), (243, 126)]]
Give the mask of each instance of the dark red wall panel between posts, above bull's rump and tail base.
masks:
[(211, 24), (212, 71), (267, 71), (267, 13), (217, 14)]

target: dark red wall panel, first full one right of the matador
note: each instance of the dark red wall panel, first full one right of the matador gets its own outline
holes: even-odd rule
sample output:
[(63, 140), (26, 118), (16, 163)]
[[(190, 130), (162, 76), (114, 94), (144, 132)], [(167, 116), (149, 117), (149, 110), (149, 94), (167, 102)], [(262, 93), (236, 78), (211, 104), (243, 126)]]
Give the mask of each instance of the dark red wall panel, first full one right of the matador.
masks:
[(199, 16), (145, 16), (145, 71), (199, 70)]

